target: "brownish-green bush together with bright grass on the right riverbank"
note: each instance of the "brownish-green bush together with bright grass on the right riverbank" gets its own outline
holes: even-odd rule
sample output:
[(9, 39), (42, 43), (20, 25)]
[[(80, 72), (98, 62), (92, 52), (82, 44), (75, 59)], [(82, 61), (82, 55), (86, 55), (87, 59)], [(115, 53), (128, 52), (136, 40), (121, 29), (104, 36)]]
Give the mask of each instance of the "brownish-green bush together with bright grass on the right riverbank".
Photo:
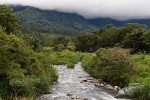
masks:
[(132, 97), (135, 100), (150, 99), (150, 55), (129, 54), (122, 48), (99, 49), (86, 53), (82, 66), (94, 78), (112, 85), (124, 87), (130, 82), (140, 83)]

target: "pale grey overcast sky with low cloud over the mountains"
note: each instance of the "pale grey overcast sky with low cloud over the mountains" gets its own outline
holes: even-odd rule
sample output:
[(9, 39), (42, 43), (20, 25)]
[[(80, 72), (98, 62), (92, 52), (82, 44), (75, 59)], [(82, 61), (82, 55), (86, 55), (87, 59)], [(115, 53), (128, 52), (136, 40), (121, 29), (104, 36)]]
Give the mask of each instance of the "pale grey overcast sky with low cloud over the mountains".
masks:
[(85, 18), (108, 17), (117, 20), (150, 18), (150, 0), (0, 0), (0, 4), (21, 4), (72, 12)]

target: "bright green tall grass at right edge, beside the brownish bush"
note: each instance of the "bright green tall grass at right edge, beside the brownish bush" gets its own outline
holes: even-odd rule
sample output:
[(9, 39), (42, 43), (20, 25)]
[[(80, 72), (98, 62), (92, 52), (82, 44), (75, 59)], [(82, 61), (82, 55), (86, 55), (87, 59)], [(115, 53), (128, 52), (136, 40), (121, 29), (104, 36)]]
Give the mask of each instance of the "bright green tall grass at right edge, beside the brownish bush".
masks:
[(137, 64), (137, 74), (133, 82), (143, 86), (133, 92), (135, 100), (150, 100), (150, 54), (134, 54), (131, 58)]

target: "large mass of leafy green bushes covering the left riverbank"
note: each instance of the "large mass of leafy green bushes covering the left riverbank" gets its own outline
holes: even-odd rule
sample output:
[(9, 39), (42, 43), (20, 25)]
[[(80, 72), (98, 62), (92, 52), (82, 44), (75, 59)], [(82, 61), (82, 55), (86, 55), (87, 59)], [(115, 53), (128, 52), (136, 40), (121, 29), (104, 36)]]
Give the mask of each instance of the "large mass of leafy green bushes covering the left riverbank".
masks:
[(50, 65), (50, 58), (46, 53), (34, 52), (21, 37), (8, 35), (0, 27), (2, 98), (33, 96), (48, 90), (57, 79), (57, 73)]

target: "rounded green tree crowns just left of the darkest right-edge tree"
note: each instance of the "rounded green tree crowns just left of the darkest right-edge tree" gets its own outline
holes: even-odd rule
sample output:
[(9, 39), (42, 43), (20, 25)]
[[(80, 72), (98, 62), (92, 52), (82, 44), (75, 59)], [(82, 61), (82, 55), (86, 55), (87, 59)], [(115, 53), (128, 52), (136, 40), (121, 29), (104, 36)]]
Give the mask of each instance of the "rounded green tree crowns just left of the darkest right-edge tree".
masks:
[(98, 37), (99, 48), (114, 47), (124, 40), (126, 30), (123, 27), (117, 28), (112, 24), (108, 24), (103, 29), (93, 31), (93, 34)]

